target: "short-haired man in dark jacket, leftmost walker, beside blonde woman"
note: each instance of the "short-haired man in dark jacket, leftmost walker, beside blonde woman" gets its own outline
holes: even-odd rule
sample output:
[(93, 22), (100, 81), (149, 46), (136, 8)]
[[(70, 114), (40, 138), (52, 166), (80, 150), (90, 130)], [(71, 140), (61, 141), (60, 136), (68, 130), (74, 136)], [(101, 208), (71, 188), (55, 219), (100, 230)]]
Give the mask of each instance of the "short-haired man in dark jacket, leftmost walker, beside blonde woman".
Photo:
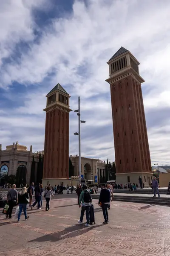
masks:
[(14, 205), (17, 205), (18, 203), (18, 192), (15, 189), (16, 185), (12, 185), (12, 189), (9, 189), (7, 193), (7, 203), (9, 205), (8, 211), (6, 212), (6, 218), (12, 218), (12, 210), (14, 208)]

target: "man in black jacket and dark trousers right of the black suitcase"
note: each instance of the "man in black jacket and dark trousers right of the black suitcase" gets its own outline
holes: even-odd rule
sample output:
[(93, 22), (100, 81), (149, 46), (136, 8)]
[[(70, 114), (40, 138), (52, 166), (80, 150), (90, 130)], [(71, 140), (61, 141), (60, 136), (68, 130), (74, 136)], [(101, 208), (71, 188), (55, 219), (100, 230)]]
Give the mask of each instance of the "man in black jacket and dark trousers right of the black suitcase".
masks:
[(99, 205), (102, 203), (102, 211), (103, 211), (103, 217), (105, 221), (103, 224), (108, 224), (109, 218), (108, 218), (108, 205), (111, 200), (111, 193), (109, 190), (106, 188), (106, 184), (102, 184), (102, 189), (100, 192), (100, 197), (99, 197)]

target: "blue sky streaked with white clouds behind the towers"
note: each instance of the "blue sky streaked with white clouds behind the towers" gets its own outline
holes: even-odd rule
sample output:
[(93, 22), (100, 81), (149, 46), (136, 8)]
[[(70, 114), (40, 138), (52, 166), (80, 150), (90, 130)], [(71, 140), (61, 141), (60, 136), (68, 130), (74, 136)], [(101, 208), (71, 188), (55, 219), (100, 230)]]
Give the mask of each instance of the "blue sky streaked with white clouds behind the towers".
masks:
[[(44, 147), (45, 95), (81, 97), (82, 156), (114, 160), (108, 64), (121, 47), (141, 63), (152, 163), (170, 163), (170, 0), (0, 1), (0, 143)], [(70, 114), (70, 154), (78, 153)]]

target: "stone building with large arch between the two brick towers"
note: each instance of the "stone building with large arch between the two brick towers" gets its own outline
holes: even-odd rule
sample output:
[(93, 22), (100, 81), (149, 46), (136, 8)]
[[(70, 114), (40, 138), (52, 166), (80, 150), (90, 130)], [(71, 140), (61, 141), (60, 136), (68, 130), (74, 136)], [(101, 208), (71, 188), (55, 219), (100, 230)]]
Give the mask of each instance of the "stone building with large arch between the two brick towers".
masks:
[[(70, 156), (72, 165), (74, 166), (74, 176), (79, 176), (79, 157)], [(101, 177), (105, 177), (105, 161), (81, 157), (81, 176), (87, 183), (100, 183)]]

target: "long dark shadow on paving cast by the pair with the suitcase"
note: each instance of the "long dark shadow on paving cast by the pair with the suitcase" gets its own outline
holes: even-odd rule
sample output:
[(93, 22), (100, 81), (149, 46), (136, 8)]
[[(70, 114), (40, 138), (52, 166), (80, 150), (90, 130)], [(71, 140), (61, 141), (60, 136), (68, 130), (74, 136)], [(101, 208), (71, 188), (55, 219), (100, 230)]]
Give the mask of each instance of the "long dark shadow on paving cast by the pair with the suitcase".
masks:
[(84, 224), (83, 225), (76, 224), (72, 227), (67, 227), (64, 230), (60, 231), (60, 232), (52, 233), (50, 235), (45, 235), (45, 236), (39, 237), (37, 239), (30, 240), (28, 242), (29, 243), (31, 243), (31, 242), (44, 242), (44, 241), (57, 242), (59, 240), (63, 241), (63, 239), (66, 239), (66, 238), (69, 239), (69, 238), (73, 238), (75, 236), (83, 235), (86, 232), (89, 232), (90, 230), (93, 230), (94, 228), (101, 227), (101, 226), (103, 226), (103, 224), (93, 225), (93, 226), (90, 226), (90, 227), (85, 227)]

